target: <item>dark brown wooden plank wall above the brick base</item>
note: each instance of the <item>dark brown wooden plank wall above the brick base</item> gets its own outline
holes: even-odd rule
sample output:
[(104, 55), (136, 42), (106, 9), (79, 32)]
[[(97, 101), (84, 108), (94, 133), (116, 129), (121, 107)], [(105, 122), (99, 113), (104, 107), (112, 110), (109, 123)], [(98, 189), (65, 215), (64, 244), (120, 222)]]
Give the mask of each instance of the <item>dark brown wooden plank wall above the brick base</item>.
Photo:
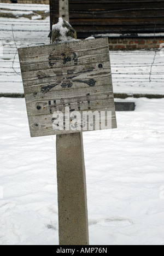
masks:
[[(50, 0), (50, 13), (52, 25), (58, 21), (58, 0)], [(78, 38), (164, 32), (164, 0), (69, 0), (69, 17)]]

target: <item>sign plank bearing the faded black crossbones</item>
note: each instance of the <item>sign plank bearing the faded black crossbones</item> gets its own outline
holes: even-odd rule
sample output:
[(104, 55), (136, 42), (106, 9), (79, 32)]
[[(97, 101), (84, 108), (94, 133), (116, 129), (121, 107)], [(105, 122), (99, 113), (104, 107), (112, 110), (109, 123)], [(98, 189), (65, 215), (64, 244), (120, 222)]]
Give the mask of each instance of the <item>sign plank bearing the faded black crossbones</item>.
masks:
[[(93, 61), (93, 60), (92, 60)], [(101, 67), (99, 68), (99, 64), (101, 63)], [(48, 67), (49, 68), (49, 67)], [(54, 69), (41, 69), (41, 70), (34, 70), (34, 71), (27, 71), (22, 73), (22, 79), (24, 80), (24, 88), (26, 90), (26, 94), (33, 93), (32, 90), (35, 90), (35, 88), (38, 84), (40, 86), (48, 86), (48, 85), (57, 85), (58, 90), (65, 85), (66, 82), (72, 82), (72, 86), (69, 85), (69, 88), (79, 88), (81, 86), (86, 87), (86, 84), (80, 85), (80, 81), (85, 81), (83, 78), (83, 74), (87, 73), (87, 80), (92, 79), (92, 77), (95, 77), (95, 80), (99, 80), (99, 75), (102, 73), (104, 74), (104, 79), (108, 77), (109, 75), (109, 68), (110, 63), (104, 62), (104, 60), (100, 60), (98, 63), (87, 63), (85, 65), (77, 65), (76, 70), (73, 66), (71, 67), (57, 67)], [(63, 75), (65, 75), (65, 79), (62, 80)], [(110, 73), (111, 75), (111, 73)], [(68, 87), (66, 86), (66, 89)], [(53, 90), (53, 88), (51, 88)]]

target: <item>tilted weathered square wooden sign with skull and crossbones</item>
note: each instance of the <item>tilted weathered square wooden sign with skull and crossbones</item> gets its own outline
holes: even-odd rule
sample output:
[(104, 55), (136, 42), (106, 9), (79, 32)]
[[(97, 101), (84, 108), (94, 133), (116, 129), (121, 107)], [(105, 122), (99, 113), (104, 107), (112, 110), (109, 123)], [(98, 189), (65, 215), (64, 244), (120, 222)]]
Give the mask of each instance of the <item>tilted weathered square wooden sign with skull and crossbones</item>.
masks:
[(31, 137), (116, 128), (108, 38), (19, 49)]

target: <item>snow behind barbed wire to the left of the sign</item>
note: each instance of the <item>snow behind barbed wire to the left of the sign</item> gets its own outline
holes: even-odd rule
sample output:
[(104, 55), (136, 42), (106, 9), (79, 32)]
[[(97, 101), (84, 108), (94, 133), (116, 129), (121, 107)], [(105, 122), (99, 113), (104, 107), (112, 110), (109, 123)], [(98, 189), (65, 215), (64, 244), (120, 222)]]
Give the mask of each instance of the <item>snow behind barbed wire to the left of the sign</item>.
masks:
[[(5, 18), (0, 13), (0, 92), (23, 93), (17, 48), (32, 44), (49, 44), (50, 18), (40, 20), (36, 11), (48, 13), (49, 5), (0, 4), (1, 8), (32, 13), (32, 19)], [(16, 11), (15, 11), (16, 9)], [(4, 12), (4, 10), (2, 10)]]

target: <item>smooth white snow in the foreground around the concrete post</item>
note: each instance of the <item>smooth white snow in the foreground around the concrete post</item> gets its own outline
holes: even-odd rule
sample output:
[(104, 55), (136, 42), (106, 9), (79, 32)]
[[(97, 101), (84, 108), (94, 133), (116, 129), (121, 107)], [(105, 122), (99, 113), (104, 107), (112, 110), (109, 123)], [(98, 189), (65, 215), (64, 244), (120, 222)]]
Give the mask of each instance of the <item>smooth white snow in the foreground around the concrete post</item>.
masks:
[[(135, 101), (83, 133), (91, 245), (164, 245), (164, 99)], [(0, 245), (57, 245), (56, 136), (30, 138), (24, 99), (0, 109)]]

